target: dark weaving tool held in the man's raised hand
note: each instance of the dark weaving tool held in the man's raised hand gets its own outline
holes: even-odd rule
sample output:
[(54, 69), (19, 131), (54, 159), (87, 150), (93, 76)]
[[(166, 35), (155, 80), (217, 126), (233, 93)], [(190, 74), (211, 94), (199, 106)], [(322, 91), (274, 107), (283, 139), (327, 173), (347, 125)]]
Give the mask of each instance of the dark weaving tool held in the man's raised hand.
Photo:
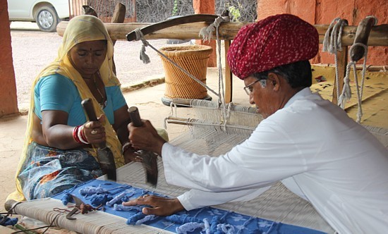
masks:
[[(141, 127), (143, 125), (143, 122), (140, 119), (139, 110), (136, 106), (131, 106), (128, 109), (128, 113), (135, 127)], [(139, 150), (137, 153), (142, 158), (142, 165), (147, 176), (147, 183), (150, 183), (153, 187), (157, 187), (157, 154), (145, 150)]]

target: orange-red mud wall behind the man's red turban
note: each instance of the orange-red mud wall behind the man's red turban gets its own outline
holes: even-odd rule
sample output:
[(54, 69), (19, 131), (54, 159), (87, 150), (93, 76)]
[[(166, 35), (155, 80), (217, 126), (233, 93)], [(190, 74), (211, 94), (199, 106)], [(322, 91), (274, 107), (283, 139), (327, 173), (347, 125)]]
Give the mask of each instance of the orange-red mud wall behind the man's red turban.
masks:
[[(257, 19), (279, 13), (291, 13), (314, 25), (329, 25), (338, 17), (348, 20), (348, 25), (358, 25), (366, 16), (375, 16), (381, 25), (388, 23), (388, 1), (257, 0)], [(320, 52), (313, 63), (334, 63), (334, 56)], [(367, 64), (387, 65), (388, 47), (369, 47)]]

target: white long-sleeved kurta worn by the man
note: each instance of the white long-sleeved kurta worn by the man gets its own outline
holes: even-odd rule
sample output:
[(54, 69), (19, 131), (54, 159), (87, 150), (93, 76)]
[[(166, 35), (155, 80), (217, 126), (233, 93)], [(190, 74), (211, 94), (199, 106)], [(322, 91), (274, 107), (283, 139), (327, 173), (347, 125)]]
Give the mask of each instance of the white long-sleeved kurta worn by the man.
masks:
[(188, 210), (253, 199), (281, 180), (339, 233), (388, 231), (387, 149), (309, 88), (224, 155), (165, 143), (162, 159), (167, 183), (193, 189), (178, 197)]

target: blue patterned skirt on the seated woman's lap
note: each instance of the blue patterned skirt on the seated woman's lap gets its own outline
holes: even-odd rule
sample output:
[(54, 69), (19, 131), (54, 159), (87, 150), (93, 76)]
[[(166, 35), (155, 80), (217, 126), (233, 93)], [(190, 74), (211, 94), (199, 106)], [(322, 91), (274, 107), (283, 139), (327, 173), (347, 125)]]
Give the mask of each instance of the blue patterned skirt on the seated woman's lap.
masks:
[(102, 176), (87, 149), (61, 150), (32, 142), (18, 179), (26, 199), (51, 197), (75, 185)]

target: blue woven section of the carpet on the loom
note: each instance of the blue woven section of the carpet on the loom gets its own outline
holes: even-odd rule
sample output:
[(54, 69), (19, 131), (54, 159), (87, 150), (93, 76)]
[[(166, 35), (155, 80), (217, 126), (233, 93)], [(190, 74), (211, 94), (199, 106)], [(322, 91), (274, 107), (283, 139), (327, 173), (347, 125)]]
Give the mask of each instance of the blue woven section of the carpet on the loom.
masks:
[[(104, 204), (106, 201), (104, 199), (107, 199), (107, 197), (110, 197), (109, 199), (111, 199), (112, 197), (116, 197), (118, 195), (121, 195), (121, 199), (119, 199), (119, 201), (116, 202), (115, 204), (121, 204), (121, 202), (123, 201), (128, 201), (129, 199), (135, 199), (137, 197), (140, 197), (146, 194), (164, 196), (147, 190), (140, 189), (138, 187), (132, 187), (131, 185), (122, 185), (122, 184), (114, 183), (107, 180), (90, 180), (90, 181), (87, 181), (86, 183), (77, 185), (70, 190), (63, 191), (60, 194), (55, 195), (53, 198), (60, 199), (60, 200), (66, 199), (66, 193), (70, 193), (71, 195), (75, 195), (75, 197), (78, 197), (81, 200), (83, 200), (85, 204), (92, 204), (92, 201), (95, 203), (96, 199), (94, 200), (92, 199), (96, 198), (96, 195), (86, 195), (85, 191), (87, 193), (87, 190), (95, 190), (95, 191), (99, 190), (100, 192), (103, 192), (103, 193), (99, 193), (99, 198), (101, 201), (104, 201)], [(102, 199), (103, 195), (104, 195), (104, 199)], [(74, 203), (74, 201), (71, 201), (71, 202)], [(97, 207), (97, 206), (94, 205), (94, 207)], [(138, 210), (130, 210), (130, 211), (115, 210), (113, 205), (111, 207), (104, 205), (104, 209), (105, 209), (105, 212), (109, 214), (114, 214), (116, 216), (121, 216), (123, 218), (131, 218), (139, 213)], [(81, 215), (81, 214), (78, 214), (78, 215)], [(212, 224), (211, 223), (212, 218), (214, 216), (218, 216), (219, 218), (222, 218), (222, 221), (219, 223), (224, 223), (224, 230), (226, 230), (226, 227), (229, 227), (228, 230), (234, 229), (234, 232), (231, 232), (231, 233), (322, 234), (321, 231), (313, 230), (310, 228), (303, 228), (300, 226), (293, 226), (286, 223), (269, 221), (263, 218), (256, 218), (256, 217), (247, 216), (244, 214), (238, 214), (233, 211), (216, 209), (213, 207), (194, 209), (192, 211), (181, 211), (181, 212), (178, 212), (176, 215), (179, 215), (179, 216), (187, 215), (189, 218), (197, 218), (200, 221), (200, 223), (203, 223), (204, 218), (207, 218), (207, 221), (210, 223), (210, 225)], [(168, 221), (166, 217), (162, 217), (162, 216), (156, 216), (156, 218), (150, 221), (146, 221), (143, 224), (152, 226), (155, 228), (160, 228), (162, 230), (169, 230), (171, 232), (176, 232), (177, 231), (176, 228), (179, 228), (180, 226), (182, 226), (182, 224)], [(219, 228), (221, 228), (221, 226), (219, 226)], [(205, 233), (206, 230), (209, 231), (209, 227), (207, 227), (207, 229), (197, 228), (193, 232), (188, 232), (188, 233)], [(208, 233), (224, 233), (222, 230), (218, 230), (218, 231), (214, 231), (214, 230), (215, 230), (214, 227), (212, 227), (212, 231), (209, 231)]]

